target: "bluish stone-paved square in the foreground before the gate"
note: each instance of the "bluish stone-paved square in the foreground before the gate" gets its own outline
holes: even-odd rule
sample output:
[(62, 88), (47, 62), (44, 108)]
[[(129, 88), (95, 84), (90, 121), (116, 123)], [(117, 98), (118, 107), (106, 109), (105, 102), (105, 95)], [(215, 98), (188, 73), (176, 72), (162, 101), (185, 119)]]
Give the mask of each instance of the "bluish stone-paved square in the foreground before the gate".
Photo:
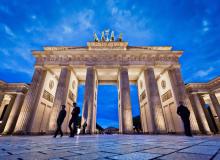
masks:
[(1, 160), (220, 160), (220, 136), (0, 137)]

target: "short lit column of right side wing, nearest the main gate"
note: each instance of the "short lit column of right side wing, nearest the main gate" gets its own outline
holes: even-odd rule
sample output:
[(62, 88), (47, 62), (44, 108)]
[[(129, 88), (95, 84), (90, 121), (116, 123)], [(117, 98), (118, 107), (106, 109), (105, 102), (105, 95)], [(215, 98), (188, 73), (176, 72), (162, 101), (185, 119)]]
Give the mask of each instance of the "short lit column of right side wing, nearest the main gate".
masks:
[(190, 94), (190, 101), (193, 105), (193, 110), (197, 119), (199, 130), (204, 134), (210, 134), (210, 128), (206, 119), (201, 99), (198, 94)]

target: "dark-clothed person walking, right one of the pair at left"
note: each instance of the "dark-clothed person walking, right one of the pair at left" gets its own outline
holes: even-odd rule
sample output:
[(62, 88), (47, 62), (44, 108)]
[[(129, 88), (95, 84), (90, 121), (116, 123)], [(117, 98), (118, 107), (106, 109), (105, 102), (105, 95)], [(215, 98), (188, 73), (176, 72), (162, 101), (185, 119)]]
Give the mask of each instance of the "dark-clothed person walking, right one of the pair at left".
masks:
[[(77, 104), (73, 103), (73, 111), (71, 113), (72, 117), (69, 121), (69, 129), (70, 129), (70, 137), (74, 137), (74, 135), (77, 132), (77, 120), (79, 117), (80, 108), (77, 106)], [(73, 125), (73, 127), (72, 127)]]

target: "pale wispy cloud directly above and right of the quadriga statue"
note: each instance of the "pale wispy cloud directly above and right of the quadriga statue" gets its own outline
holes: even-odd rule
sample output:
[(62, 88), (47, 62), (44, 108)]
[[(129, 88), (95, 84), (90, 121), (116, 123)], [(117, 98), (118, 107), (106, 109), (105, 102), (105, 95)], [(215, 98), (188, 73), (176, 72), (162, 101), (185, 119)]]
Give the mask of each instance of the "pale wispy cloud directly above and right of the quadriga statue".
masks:
[[(148, 27), (149, 19), (136, 11), (136, 6), (132, 9), (122, 8), (117, 1), (107, 1), (108, 10), (111, 13), (110, 23), (117, 32), (122, 32), (126, 39), (135, 39), (138, 42), (152, 38), (152, 31)], [(139, 44), (140, 45), (140, 44)]]

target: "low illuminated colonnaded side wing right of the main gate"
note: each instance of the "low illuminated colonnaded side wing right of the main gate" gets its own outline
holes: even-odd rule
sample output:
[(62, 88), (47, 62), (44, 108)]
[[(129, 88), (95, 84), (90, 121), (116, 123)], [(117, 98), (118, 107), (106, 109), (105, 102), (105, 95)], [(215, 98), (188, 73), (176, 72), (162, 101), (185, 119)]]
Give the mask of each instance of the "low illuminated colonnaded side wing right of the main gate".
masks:
[(208, 83), (186, 85), (194, 113), (202, 133), (220, 131), (220, 77)]

